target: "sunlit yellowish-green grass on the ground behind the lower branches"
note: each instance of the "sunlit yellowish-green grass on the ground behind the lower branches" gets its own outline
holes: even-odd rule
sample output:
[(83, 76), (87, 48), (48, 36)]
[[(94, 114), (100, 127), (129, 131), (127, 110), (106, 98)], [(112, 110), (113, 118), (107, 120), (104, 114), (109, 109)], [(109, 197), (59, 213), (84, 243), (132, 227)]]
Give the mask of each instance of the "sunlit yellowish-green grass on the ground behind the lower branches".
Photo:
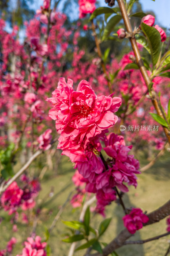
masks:
[[(148, 163), (147, 160), (142, 161), (143, 156), (139, 155), (141, 166)], [(41, 158), (42, 160), (43, 158)], [(37, 166), (37, 165), (36, 165)], [(30, 168), (34, 168), (33, 164)], [(36, 171), (40, 172), (41, 169)], [(54, 172), (47, 171), (42, 182), (41, 192), (37, 199), (38, 206), (42, 207), (41, 214), (38, 216), (36, 234), (45, 238), (45, 227), (49, 228), (54, 220), (60, 207), (67, 199), (70, 191), (74, 188), (71, 177), (74, 173), (72, 164), (68, 158), (63, 157), (61, 164), (57, 170), (58, 175), (53, 175)], [(123, 196), (126, 207), (140, 207), (143, 211), (151, 212), (157, 209), (159, 206), (166, 203), (170, 197), (170, 160), (169, 155), (166, 153), (159, 161), (152, 166), (149, 170), (138, 175), (137, 189), (129, 187), (129, 193)], [(54, 196), (48, 197), (49, 192), (54, 190)], [(81, 209), (72, 209), (68, 204), (62, 213), (61, 219), (63, 220), (78, 220)], [(112, 202), (111, 205), (106, 207), (107, 218), (112, 217), (112, 221), (109, 228), (101, 237), (101, 241), (110, 242), (117, 233), (119, 233), (124, 227), (122, 223), (123, 211), (120, 205)], [(18, 239), (18, 243), (14, 249), (13, 255), (21, 254), (22, 242), (30, 235), (32, 231), (33, 219), (30, 219), (31, 226), (21, 223), (21, 217), (19, 217), (17, 226), (18, 232), (12, 233), (12, 224), (10, 222), (11, 217), (1, 210), (0, 216), (3, 218), (0, 224), (0, 250), (4, 249), (7, 241), (11, 236), (15, 236)], [(62, 242), (64, 233), (67, 232), (66, 226), (61, 222), (61, 219), (57, 222), (56, 227), (51, 232), (48, 244), (51, 247), (51, 255), (66, 256), (70, 244)], [(98, 228), (100, 222), (103, 220), (102, 216), (93, 215), (91, 213), (91, 226)], [(152, 236), (156, 236), (166, 232), (166, 220), (161, 220), (159, 223), (146, 226), (138, 231), (130, 240), (146, 239)], [(143, 245), (125, 245), (119, 248), (116, 252), (119, 256), (161, 256), (164, 255), (168, 247), (168, 239), (170, 236), (160, 238), (159, 240), (145, 243)], [(80, 244), (80, 243), (79, 243)], [(75, 256), (84, 255), (85, 250), (75, 252)]]

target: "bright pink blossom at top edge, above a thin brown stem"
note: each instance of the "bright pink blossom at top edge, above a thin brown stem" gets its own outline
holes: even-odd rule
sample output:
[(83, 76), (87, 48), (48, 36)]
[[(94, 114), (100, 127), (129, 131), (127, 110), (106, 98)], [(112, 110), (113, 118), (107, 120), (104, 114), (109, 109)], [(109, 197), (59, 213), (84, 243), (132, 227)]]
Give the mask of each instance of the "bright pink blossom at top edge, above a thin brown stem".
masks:
[(92, 13), (96, 9), (96, 0), (78, 0), (79, 4), (79, 18), (82, 19), (87, 13)]

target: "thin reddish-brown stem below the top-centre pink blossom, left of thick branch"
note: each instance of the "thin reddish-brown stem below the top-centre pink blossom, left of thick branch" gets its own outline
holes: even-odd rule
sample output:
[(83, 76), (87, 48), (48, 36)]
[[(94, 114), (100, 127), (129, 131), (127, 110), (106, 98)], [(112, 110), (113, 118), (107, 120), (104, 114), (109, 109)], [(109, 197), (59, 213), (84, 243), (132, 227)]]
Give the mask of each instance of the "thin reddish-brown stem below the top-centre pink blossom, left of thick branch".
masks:
[(94, 36), (94, 39), (95, 39), (95, 44), (96, 44), (96, 48), (97, 48), (97, 53), (98, 53), (98, 56), (99, 56), (99, 58), (100, 58), (100, 60), (101, 60), (101, 66), (102, 66), (102, 68), (103, 68), (103, 73), (105, 74), (105, 78), (106, 78), (106, 80), (107, 80), (107, 84), (108, 84), (109, 91), (110, 91), (110, 93), (113, 93), (110, 80), (109, 80), (109, 78), (108, 78), (108, 76), (107, 76), (105, 63), (104, 63), (103, 60), (102, 60), (102, 53), (101, 53), (101, 49), (100, 49), (100, 44), (99, 44), (99, 40), (98, 40), (97, 35), (96, 35), (96, 30), (95, 30), (95, 27), (94, 27), (93, 20), (92, 20), (92, 31), (93, 31), (93, 36)]

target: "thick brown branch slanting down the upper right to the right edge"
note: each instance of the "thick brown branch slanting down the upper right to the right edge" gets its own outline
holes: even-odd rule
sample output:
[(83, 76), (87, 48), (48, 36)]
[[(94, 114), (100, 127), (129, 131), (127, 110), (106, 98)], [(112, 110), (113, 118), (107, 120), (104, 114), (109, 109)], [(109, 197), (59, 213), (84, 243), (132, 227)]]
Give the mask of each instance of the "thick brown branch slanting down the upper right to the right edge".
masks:
[[(118, 2), (118, 5), (119, 5), (119, 8), (120, 8), (120, 11), (122, 13), (122, 18), (124, 20), (124, 25), (125, 25), (125, 28), (126, 28), (127, 32), (128, 33), (133, 33), (133, 30), (132, 30), (132, 27), (131, 27), (131, 24), (130, 24), (130, 20), (129, 20), (128, 14), (126, 12), (126, 8), (125, 8), (123, 0), (117, 0), (117, 2)], [(147, 85), (147, 87), (149, 87), (149, 84), (151, 83), (151, 79), (148, 76), (146, 68), (144, 67), (144, 63), (142, 61), (139, 49), (137, 47), (136, 39), (135, 39), (135, 37), (130, 37), (129, 40), (130, 40), (133, 52), (134, 52), (135, 57), (136, 57), (136, 63), (137, 63), (137, 65), (140, 69), (140, 72), (141, 72), (141, 74), (144, 78), (144, 82)], [(158, 103), (158, 100), (157, 100), (156, 93), (153, 90), (151, 92), (151, 100), (152, 100), (152, 104), (153, 104), (157, 114), (164, 119), (163, 113), (162, 113), (162, 111), (159, 107), (159, 103)], [(166, 137), (168, 139), (168, 142), (170, 144), (170, 135), (168, 134), (169, 130), (164, 126), (162, 126), (162, 127), (164, 129), (165, 135), (166, 135)]]

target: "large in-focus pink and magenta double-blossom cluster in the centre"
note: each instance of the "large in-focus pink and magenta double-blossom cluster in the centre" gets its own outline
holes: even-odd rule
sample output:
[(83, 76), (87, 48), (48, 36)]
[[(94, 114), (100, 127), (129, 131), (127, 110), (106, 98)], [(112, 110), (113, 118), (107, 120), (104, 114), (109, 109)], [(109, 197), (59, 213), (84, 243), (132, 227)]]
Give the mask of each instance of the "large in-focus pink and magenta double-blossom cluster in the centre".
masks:
[[(49, 116), (55, 120), (60, 133), (58, 148), (75, 163), (74, 168), (82, 175), (81, 181), (86, 182), (86, 191), (96, 193), (97, 209), (103, 209), (100, 211), (103, 214), (104, 206), (116, 199), (115, 186), (123, 192), (128, 191), (124, 182), (137, 186), (135, 174), (140, 173), (139, 163), (128, 155), (131, 146), (125, 146), (122, 136), (112, 133), (106, 138), (105, 135), (118, 120), (114, 112), (121, 105), (121, 99), (112, 98), (113, 95), (96, 96), (85, 80), (78, 84), (76, 91), (72, 85), (70, 79), (67, 83), (64, 78), (60, 79), (53, 97), (48, 99), (53, 105)], [(107, 162), (100, 152), (100, 140), (105, 142), (103, 149), (110, 157)]]

